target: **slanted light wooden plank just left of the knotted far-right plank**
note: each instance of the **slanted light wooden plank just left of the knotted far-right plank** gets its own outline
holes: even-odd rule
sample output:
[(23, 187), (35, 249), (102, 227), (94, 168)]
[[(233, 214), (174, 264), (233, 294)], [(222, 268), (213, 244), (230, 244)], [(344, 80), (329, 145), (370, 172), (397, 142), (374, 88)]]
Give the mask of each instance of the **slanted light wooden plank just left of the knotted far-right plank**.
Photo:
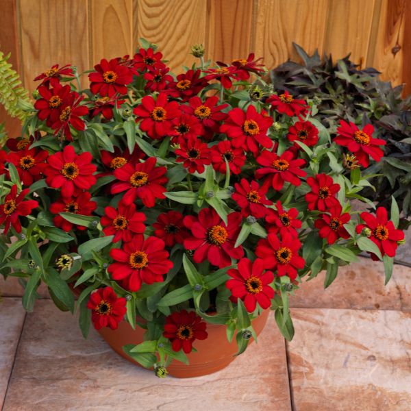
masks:
[(366, 62), (375, 0), (329, 0), (324, 51), (334, 62), (351, 53), (355, 63)]

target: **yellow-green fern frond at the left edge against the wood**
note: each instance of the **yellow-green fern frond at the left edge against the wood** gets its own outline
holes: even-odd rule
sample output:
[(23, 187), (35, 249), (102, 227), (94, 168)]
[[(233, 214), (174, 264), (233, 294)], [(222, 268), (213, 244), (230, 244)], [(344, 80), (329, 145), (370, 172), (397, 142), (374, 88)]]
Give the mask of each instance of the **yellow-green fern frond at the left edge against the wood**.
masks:
[(10, 116), (17, 116), (21, 121), (27, 118), (27, 112), (18, 108), (18, 99), (31, 103), (29, 92), (21, 86), (20, 76), (12, 70), (12, 64), (7, 62), (10, 53), (4, 57), (0, 51), (0, 103)]

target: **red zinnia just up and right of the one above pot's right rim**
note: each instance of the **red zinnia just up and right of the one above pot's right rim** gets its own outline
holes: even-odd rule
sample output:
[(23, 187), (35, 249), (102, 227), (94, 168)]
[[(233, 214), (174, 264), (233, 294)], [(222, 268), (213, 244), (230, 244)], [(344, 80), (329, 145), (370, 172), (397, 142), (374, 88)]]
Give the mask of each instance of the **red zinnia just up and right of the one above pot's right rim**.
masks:
[(290, 233), (284, 234), (281, 242), (277, 234), (269, 234), (257, 244), (256, 256), (264, 260), (265, 269), (277, 269), (278, 277), (288, 275), (290, 279), (297, 278), (297, 269), (303, 269), (306, 261), (298, 255), (301, 242), (292, 238)]

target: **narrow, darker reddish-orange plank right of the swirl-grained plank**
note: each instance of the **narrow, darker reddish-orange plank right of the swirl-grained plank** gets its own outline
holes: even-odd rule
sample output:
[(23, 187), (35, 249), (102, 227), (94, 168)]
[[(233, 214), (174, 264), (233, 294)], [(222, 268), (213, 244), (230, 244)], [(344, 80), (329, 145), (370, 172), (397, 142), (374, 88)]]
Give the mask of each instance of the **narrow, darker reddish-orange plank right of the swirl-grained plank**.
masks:
[(252, 0), (210, 0), (206, 58), (227, 64), (247, 58), (252, 14)]

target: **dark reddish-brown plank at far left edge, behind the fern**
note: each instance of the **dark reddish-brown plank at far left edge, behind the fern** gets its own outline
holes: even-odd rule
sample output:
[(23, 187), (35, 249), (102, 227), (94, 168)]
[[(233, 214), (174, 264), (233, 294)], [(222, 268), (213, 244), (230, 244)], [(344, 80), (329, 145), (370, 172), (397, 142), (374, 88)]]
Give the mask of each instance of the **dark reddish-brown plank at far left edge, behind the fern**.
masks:
[[(0, 50), (4, 55), (12, 53), (8, 62), (20, 73), (18, 61), (18, 38), (16, 28), (16, 4), (14, 0), (1, 1), (0, 12)], [(5, 123), (5, 129), (10, 137), (16, 137), (21, 131), (21, 121), (12, 118), (0, 104), (0, 123)]]

